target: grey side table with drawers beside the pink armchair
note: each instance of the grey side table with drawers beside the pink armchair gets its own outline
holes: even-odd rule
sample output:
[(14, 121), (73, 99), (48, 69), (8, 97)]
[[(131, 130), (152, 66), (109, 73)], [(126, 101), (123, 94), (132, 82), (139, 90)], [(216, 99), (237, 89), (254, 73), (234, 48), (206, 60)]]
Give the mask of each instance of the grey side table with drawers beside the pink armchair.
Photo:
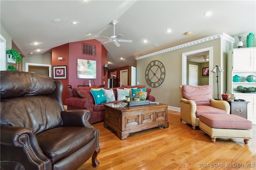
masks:
[(247, 119), (247, 104), (249, 102), (228, 101), (228, 103), (230, 105), (230, 114)]

